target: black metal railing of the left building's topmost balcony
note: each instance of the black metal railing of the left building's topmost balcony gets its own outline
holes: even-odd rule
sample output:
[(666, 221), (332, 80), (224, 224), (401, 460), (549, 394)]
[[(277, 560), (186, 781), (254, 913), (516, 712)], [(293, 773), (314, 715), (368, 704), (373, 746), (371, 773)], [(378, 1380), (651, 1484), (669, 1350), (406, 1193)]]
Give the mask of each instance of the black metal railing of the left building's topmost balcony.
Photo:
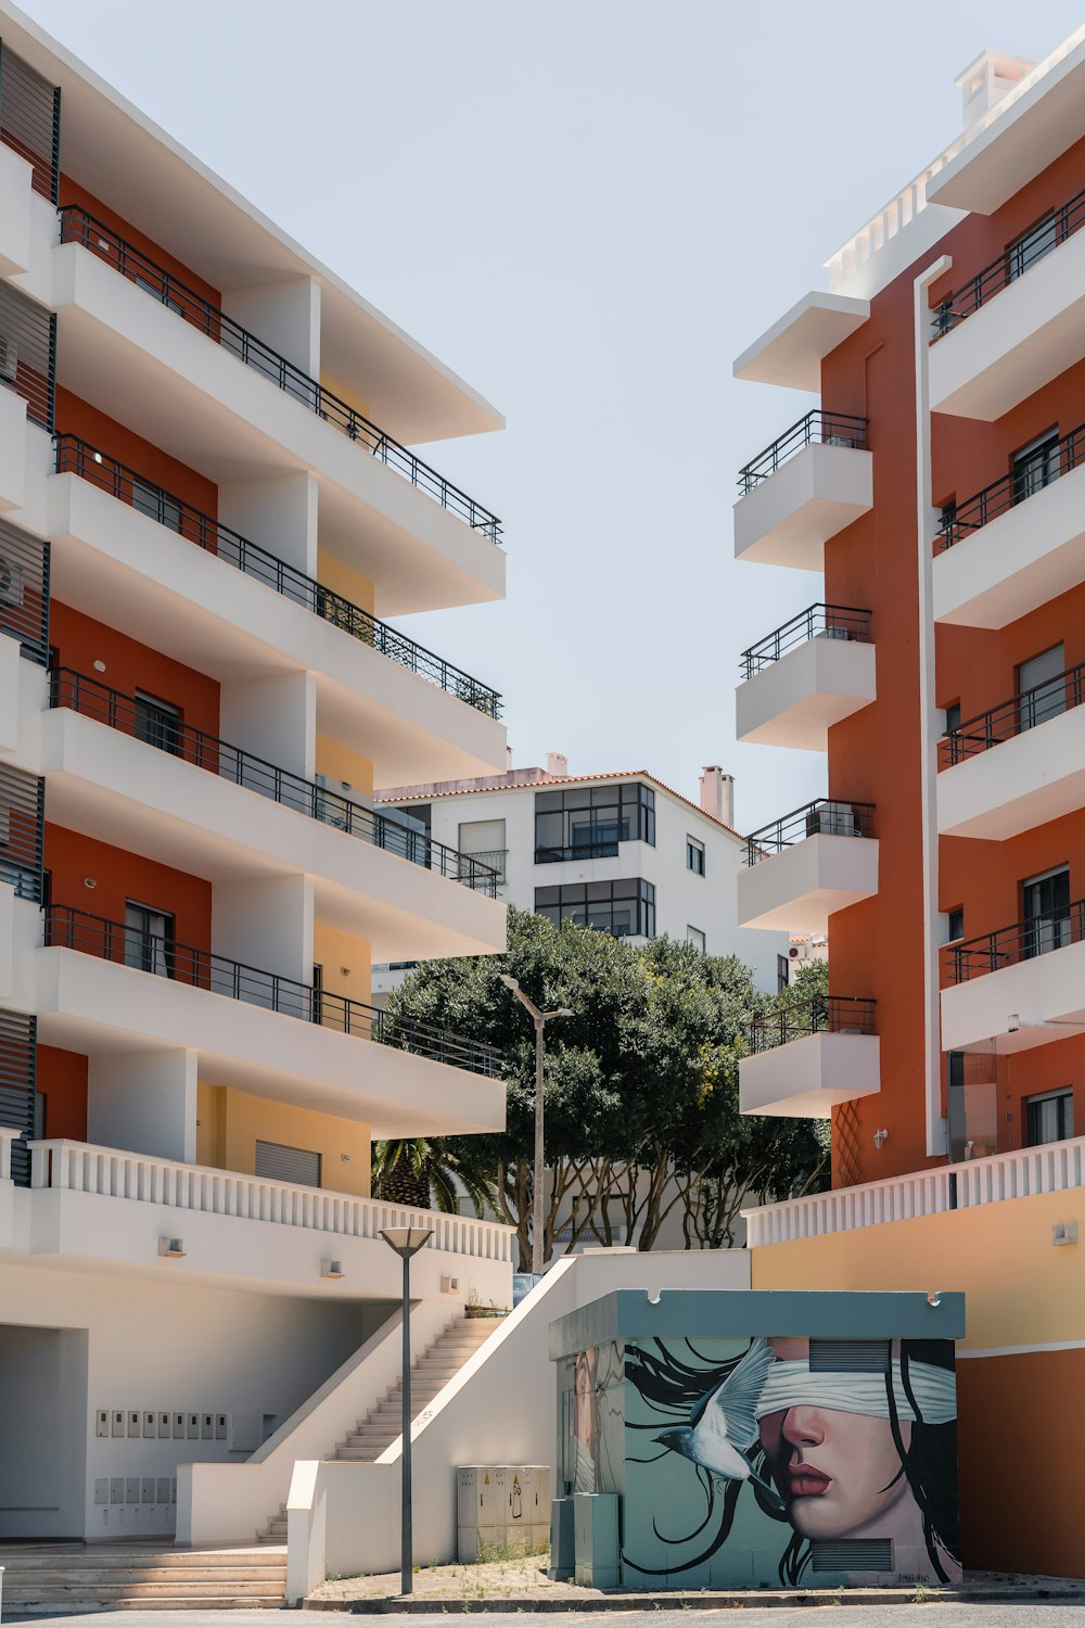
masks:
[(145, 293), (168, 306), (179, 317), (184, 317), (185, 322), (198, 327), (216, 345), (229, 350), (231, 355), (278, 386), (293, 400), (307, 407), (309, 412), (324, 418), (374, 457), (379, 457), (382, 464), (387, 464), (405, 480), (410, 480), (413, 487), (431, 497), (441, 508), (465, 519), (473, 531), (481, 532), (491, 542), (499, 540), (501, 521), (496, 514), (485, 510), (481, 503), (475, 503), (473, 498), (460, 492), (451, 480), (439, 475), (436, 469), (425, 464), (421, 457), (400, 446), (399, 441), (394, 441), (390, 435), (386, 435), (376, 423), (364, 418), (355, 407), (325, 389), (324, 384), (311, 379), (293, 361), (286, 361), (277, 350), (272, 350), (255, 334), (234, 322), (231, 316), (213, 306), (210, 300), (195, 293), (187, 283), (174, 277), (172, 272), (148, 259), (133, 243), (120, 238), (112, 226), (106, 226), (83, 208), (67, 205), (60, 210), (60, 241), (78, 243), (85, 249), (89, 249), (91, 254), (96, 254), (98, 259), (107, 260), (130, 283), (137, 283)]

